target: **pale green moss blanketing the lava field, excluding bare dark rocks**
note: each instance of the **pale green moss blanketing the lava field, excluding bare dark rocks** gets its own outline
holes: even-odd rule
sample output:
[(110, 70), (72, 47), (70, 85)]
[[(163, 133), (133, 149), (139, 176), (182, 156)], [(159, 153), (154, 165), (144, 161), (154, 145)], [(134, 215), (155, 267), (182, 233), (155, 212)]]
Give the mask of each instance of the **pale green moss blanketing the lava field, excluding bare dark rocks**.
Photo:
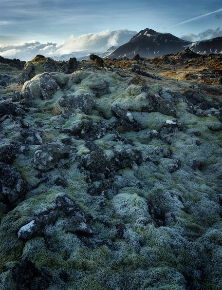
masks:
[[(161, 83), (158, 87), (130, 84), (131, 77), (109, 71), (51, 75), (60, 86), (51, 99), (41, 99), (39, 75), (24, 84), (23, 91), (29, 88), (36, 108), (41, 109), (30, 108), (24, 121), (29, 131), (40, 135), (41, 145), (61, 144), (60, 140), (71, 138), (75, 156), (40, 172), (34, 167), (34, 157), (41, 145), (27, 141), (12, 163), (28, 182), (28, 192), (11, 211), (5, 212), (0, 203), (0, 289), (21, 289), (13, 273), (18, 261), (27, 258), (47, 272), (49, 285), (41, 286), (47, 290), (221, 290), (220, 120), (196, 116), (185, 101), (174, 105), (176, 118), (146, 112), (148, 92), (158, 94)], [(93, 95), (96, 103), (92, 115), (59, 105), (59, 99), (71, 93)], [(120, 123), (121, 116), (112, 110), (117, 105), (128, 112), (125, 123)], [(61, 115), (65, 109), (72, 112), (69, 118)], [(119, 168), (109, 177), (110, 185), (96, 194), (90, 194), (91, 180), (81, 165), (92, 150), (83, 136), (74, 133), (80, 122), (89, 120), (105, 129), (112, 126), (121, 136), (118, 140), (106, 129), (105, 135), (94, 138), (107, 164), (113, 151), (123, 149), (137, 149), (142, 158), (132, 166)], [(174, 126), (176, 122), (183, 130)], [(136, 124), (137, 130), (130, 130), (127, 124)], [(170, 135), (166, 136), (164, 128), (171, 128)], [(0, 134), (1, 143), (16, 142), (21, 126), (8, 118), (1, 123)], [(166, 149), (170, 149), (170, 156), (163, 154)], [(181, 167), (170, 172), (176, 160), (181, 161)], [(196, 168), (193, 160), (199, 162)], [(45, 179), (39, 182), (40, 178)], [(57, 185), (57, 178), (66, 185)], [(96, 182), (92, 181), (95, 186)], [(19, 229), (33, 219), (34, 213), (55, 210), (56, 198), (64, 195), (93, 216), (88, 221), (92, 236), (83, 238), (66, 231), (66, 216), (60, 214), (39, 236), (18, 238)], [(34, 287), (30, 283), (32, 286), (24, 282), (23, 289)]]

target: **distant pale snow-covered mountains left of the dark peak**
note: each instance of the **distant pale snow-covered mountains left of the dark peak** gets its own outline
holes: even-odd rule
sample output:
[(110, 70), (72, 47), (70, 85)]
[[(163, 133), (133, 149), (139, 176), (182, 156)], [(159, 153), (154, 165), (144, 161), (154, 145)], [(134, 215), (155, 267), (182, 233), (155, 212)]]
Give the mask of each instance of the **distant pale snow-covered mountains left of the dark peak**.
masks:
[(90, 59), (90, 55), (94, 54), (97, 56), (100, 56), (101, 58), (106, 58), (107, 56), (109, 56), (111, 53), (113, 53), (116, 49), (118, 48), (118, 46), (111, 46), (106, 52), (90, 52), (88, 50), (82, 50), (82, 51), (74, 51), (71, 52), (70, 54), (67, 55), (62, 55), (62, 56), (55, 56), (55, 57), (51, 57), (54, 60), (57, 61), (67, 61), (70, 58), (76, 58), (78, 61), (81, 60), (87, 60)]

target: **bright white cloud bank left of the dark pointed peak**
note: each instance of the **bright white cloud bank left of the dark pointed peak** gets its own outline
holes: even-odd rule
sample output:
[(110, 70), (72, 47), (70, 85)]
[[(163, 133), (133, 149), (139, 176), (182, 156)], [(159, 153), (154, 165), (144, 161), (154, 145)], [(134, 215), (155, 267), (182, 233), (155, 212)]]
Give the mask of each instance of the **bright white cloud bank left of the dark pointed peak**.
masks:
[(3, 58), (19, 58), (29, 60), (37, 54), (45, 57), (69, 54), (74, 51), (106, 51), (112, 45), (118, 46), (128, 42), (137, 31), (128, 29), (118, 29), (114, 31), (106, 30), (100, 33), (84, 34), (75, 38), (71, 35), (61, 43), (46, 42), (40, 43), (36, 40), (22, 42), (19, 44), (1, 44), (0, 56)]

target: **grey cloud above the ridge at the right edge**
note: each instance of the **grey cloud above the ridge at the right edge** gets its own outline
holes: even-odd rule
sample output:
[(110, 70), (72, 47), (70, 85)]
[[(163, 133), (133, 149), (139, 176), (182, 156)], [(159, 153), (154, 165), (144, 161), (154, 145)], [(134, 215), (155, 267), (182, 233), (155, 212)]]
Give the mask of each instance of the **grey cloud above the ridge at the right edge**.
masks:
[(207, 29), (199, 34), (193, 34), (188, 33), (181, 36), (181, 39), (187, 40), (187, 41), (201, 41), (205, 39), (212, 39), (222, 36), (222, 28), (218, 27), (216, 29)]

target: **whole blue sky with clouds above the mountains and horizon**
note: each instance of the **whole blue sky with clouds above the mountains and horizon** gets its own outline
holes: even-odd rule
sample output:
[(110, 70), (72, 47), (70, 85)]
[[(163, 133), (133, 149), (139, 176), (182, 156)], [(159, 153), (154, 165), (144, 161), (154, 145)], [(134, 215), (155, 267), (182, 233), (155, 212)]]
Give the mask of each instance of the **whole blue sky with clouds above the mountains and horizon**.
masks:
[(145, 28), (198, 41), (222, 36), (222, 0), (0, 0), (0, 56), (106, 51)]

